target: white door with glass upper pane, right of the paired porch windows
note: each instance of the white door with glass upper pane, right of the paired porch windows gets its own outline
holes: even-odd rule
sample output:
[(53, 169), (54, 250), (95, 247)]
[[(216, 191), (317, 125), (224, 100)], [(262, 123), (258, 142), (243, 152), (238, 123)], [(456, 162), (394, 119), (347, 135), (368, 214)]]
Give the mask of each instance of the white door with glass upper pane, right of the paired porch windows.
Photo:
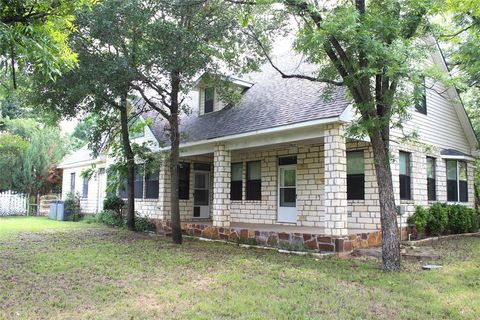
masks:
[(278, 167), (278, 221), (297, 222), (297, 165)]

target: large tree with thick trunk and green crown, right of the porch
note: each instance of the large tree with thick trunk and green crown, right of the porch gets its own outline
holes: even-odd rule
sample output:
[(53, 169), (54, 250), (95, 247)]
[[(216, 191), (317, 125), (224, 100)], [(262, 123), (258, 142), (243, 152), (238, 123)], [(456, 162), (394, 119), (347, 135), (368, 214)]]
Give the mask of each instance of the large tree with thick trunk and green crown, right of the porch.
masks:
[[(299, 18), (295, 49), (317, 66), (311, 75), (286, 74), (281, 66), (275, 66), (282, 76), (348, 89), (359, 114), (351, 134), (367, 135), (374, 154), (383, 268), (397, 271), (400, 243), (390, 169), (390, 129), (401, 123), (407, 106), (412, 105), (407, 83), (420, 83), (422, 70), (417, 61), (424, 58), (424, 50), (419, 39), (424, 35), (430, 1), (276, 2)], [(254, 28), (251, 30), (258, 38)]]

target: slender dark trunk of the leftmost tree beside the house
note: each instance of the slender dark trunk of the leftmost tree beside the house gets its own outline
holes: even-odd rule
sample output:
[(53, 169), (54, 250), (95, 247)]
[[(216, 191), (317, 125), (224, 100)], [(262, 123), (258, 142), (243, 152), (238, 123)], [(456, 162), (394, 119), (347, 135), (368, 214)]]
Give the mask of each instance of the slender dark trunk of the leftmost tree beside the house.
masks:
[(127, 96), (122, 97), (120, 108), (123, 153), (127, 162), (127, 228), (135, 231), (135, 157), (128, 133)]

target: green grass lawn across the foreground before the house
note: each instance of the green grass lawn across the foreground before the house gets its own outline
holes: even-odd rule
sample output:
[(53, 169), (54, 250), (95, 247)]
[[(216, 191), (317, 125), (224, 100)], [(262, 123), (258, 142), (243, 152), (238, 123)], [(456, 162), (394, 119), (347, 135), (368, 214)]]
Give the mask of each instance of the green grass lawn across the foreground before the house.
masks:
[(480, 238), (437, 249), (443, 269), (388, 274), (374, 258), (0, 218), (0, 319), (478, 319)]

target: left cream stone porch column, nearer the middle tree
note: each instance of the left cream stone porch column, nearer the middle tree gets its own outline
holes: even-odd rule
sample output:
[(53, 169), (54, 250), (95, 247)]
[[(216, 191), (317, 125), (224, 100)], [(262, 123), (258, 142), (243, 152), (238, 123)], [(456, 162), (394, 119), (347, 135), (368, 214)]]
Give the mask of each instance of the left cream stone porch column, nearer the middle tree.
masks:
[(230, 226), (230, 150), (224, 144), (213, 151), (213, 225)]

